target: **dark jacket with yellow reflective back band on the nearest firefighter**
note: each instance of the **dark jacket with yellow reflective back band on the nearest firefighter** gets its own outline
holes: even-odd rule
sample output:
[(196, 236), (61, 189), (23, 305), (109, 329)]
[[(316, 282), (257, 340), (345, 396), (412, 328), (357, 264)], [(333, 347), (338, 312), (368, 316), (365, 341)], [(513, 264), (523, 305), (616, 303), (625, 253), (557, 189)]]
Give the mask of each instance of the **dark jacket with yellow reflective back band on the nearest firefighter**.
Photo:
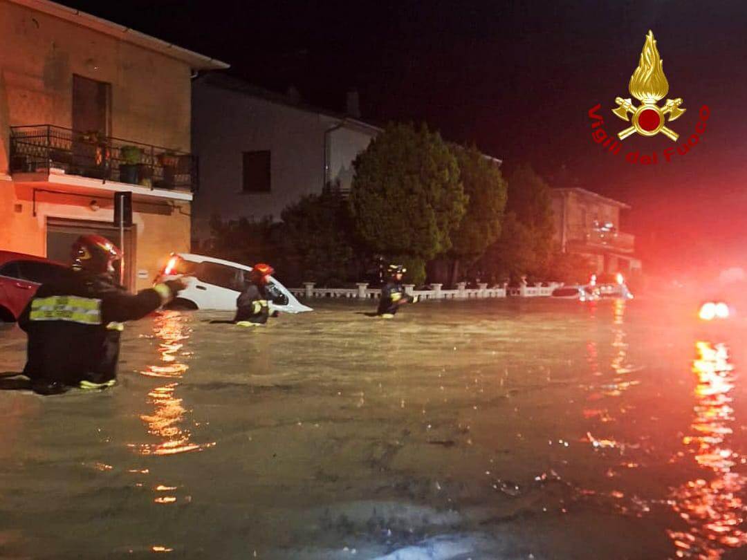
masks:
[(64, 385), (114, 379), (121, 323), (145, 317), (162, 302), (156, 289), (133, 295), (107, 274), (71, 272), (43, 284), (18, 320), (28, 333), (23, 373), (32, 381)]

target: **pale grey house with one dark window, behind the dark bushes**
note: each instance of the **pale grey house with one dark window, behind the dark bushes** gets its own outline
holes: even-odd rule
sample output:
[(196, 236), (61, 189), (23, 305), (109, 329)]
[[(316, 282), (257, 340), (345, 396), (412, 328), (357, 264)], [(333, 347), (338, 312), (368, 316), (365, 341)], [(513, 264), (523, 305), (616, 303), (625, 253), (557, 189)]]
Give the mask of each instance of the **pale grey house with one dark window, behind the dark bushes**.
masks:
[(358, 118), (356, 93), (347, 113), (304, 105), (293, 90), (279, 95), (220, 73), (193, 84), (193, 152), (200, 190), (193, 241), (222, 220), (279, 221), (282, 210), (326, 185), (350, 189), (353, 160), (380, 128)]

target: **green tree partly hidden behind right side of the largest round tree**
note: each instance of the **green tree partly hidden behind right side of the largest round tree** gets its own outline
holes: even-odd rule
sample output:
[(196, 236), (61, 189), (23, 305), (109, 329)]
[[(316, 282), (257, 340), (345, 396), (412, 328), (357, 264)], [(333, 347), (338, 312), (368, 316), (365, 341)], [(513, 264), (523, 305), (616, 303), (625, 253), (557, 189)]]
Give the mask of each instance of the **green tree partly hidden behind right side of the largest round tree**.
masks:
[(453, 259), (451, 284), (459, 278), (460, 261), (469, 266), (500, 237), (503, 211), (506, 208), (507, 187), (498, 164), (471, 146), (451, 146), (459, 164), (459, 176), (469, 197), (467, 212), (459, 227), (451, 234)]

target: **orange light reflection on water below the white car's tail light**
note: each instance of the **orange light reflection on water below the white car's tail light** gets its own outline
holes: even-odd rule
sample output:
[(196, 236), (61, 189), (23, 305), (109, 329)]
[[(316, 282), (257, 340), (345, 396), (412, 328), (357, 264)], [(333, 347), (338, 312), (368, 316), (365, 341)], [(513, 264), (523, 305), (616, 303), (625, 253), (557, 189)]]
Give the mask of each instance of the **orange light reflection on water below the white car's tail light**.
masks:
[(189, 411), (176, 395), (178, 379), (182, 379), (188, 369), (187, 364), (179, 361), (183, 341), (189, 338), (187, 316), (179, 311), (164, 311), (155, 318), (154, 331), (156, 337), (161, 339), (158, 347), (161, 364), (150, 365), (140, 373), (164, 379), (164, 385), (148, 392), (147, 401), (153, 411), (152, 414), (140, 415), (140, 420), (146, 423), (149, 434), (154, 435), (158, 442), (140, 444), (137, 451), (141, 455), (174, 455), (203, 449), (207, 447), (206, 444), (190, 441), (191, 433), (185, 427)]

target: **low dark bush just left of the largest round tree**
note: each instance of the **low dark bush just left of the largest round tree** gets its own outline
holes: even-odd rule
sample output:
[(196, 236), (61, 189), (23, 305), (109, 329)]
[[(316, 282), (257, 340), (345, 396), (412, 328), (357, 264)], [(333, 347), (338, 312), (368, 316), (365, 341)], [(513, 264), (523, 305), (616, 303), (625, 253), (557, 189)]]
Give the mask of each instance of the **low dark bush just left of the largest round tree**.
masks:
[(288, 205), (281, 217), (280, 248), (300, 280), (326, 285), (347, 280), (353, 235), (347, 205), (338, 192), (305, 196)]

